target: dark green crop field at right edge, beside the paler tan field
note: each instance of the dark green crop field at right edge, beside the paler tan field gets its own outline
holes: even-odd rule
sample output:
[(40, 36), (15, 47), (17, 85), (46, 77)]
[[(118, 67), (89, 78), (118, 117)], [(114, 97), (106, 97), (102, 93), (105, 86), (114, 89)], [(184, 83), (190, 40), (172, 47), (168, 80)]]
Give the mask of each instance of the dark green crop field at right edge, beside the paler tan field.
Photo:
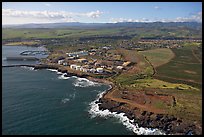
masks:
[(155, 78), (166, 81), (172, 79), (169, 82), (180, 80), (183, 81), (182, 83), (202, 84), (202, 64), (194, 56), (192, 52), (194, 48), (188, 46), (181, 49), (172, 49), (175, 58), (169, 63), (156, 68)]

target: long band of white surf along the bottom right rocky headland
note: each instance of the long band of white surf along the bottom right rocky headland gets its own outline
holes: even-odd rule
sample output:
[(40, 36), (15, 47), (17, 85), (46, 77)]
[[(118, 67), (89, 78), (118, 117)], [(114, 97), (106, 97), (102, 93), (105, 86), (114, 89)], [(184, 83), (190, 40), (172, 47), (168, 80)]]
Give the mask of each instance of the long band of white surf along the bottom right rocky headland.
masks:
[(115, 117), (117, 118), (124, 126), (126, 126), (127, 129), (133, 131), (137, 135), (165, 135), (164, 132), (158, 130), (158, 129), (150, 129), (150, 128), (143, 128), (139, 127), (138, 124), (133, 123), (134, 120), (128, 119), (127, 116), (125, 116), (125, 113), (119, 113), (117, 114), (116, 112), (110, 112), (108, 109), (106, 110), (99, 110), (99, 105), (95, 103), (96, 101), (99, 100), (103, 96), (103, 94), (106, 91), (98, 94), (98, 97), (96, 100), (91, 102), (89, 113), (91, 114), (91, 118), (100, 116), (100, 117)]

